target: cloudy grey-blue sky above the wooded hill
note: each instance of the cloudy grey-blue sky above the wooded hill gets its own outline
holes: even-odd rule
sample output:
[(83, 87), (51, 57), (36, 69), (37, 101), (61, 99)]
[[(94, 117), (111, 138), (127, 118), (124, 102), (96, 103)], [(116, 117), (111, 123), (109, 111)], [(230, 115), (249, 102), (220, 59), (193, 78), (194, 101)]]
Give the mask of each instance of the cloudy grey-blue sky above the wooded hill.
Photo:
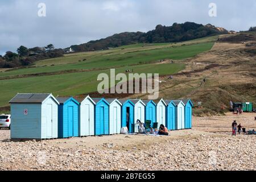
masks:
[[(46, 5), (45, 17), (38, 16), (39, 3)], [(217, 17), (209, 16), (209, 3), (216, 3)], [(175, 22), (247, 30), (255, 17), (255, 0), (0, 0), (0, 55), (21, 45), (65, 48)]]

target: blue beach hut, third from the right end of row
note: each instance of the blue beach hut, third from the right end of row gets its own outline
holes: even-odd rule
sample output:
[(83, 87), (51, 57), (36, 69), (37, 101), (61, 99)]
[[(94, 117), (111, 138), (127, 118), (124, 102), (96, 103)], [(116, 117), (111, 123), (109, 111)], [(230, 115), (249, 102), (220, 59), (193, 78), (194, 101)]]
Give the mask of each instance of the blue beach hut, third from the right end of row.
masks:
[(176, 105), (172, 101), (165, 101), (166, 107), (166, 127), (168, 130), (177, 130), (177, 120), (175, 116)]

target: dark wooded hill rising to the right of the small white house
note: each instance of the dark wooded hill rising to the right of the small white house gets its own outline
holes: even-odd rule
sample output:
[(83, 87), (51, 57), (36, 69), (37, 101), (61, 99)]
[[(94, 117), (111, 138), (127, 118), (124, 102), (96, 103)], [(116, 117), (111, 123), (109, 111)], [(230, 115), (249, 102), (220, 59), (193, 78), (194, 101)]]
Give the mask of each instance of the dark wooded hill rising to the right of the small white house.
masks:
[(228, 34), (228, 31), (225, 28), (215, 27), (212, 24), (207, 24), (206, 26), (193, 22), (174, 23), (172, 26), (162, 26), (159, 24), (155, 27), (155, 30), (146, 33), (122, 32), (121, 34), (114, 34), (105, 39), (73, 45), (70, 48), (75, 52), (98, 51), (135, 43), (183, 42), (220, 34)]

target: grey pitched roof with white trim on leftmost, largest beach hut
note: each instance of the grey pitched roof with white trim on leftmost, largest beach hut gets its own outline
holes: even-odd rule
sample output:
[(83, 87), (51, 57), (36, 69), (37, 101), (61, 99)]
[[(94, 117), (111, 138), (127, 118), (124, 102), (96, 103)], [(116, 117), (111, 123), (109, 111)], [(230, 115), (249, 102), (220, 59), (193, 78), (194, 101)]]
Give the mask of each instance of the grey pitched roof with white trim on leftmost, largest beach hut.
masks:
[(10, 104), (42, 104), (49, 97), (52, 97), (57, 104), (60, 104), (51, 93), (18, 93), (14, 98), (12, 98)]

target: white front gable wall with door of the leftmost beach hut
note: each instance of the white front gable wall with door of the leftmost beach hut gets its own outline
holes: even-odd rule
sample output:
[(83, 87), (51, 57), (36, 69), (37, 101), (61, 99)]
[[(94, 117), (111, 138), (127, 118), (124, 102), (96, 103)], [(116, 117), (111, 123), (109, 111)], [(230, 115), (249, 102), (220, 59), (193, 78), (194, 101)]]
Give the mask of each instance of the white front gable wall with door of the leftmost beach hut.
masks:
[(51, 98), (42, 103), (41, 138), (58, 138), (58, 104)]

